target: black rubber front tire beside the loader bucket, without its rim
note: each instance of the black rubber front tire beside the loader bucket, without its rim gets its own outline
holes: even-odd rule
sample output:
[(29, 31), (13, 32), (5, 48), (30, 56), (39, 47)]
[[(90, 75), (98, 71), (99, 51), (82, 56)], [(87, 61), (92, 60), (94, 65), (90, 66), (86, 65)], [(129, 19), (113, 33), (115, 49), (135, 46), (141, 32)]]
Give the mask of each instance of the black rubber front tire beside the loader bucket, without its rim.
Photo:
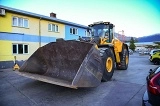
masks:
[[(112, 69), (110, 72), (108, 72), (108, 70), (106, 69), (106, 61), (109, 57), (112, 59)], [(102, 76), (102, 81), (106, 82), (112, 78), (113, 73), (114, 73), (114, 54), (113, 54), (112, 49), (107, 48), (105, 51), (103, 51), (102, 61), (103, 61), (102, 67), (104, 70), (103, 76)]]

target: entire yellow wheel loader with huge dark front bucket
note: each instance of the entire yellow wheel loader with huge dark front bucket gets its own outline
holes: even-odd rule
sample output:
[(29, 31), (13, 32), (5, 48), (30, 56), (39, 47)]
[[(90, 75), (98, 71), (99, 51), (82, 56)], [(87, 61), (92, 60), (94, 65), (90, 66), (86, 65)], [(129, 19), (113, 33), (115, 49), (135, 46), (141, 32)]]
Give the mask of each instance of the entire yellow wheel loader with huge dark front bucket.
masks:
[(128, 46), (114, 36), (114, 25), (89, 25), (90, 40), (57, 39), (37, 49), (15, 72), (35, 80), (69, 87), (96, 87), (128, 68)]

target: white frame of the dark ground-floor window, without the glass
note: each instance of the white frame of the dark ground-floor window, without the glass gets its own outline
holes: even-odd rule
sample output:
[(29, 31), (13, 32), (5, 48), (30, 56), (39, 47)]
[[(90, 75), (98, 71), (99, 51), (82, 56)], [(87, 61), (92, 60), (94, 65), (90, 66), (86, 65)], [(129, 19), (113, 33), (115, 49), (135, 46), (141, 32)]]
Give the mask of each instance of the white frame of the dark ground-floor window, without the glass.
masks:
[[(16, 53), (14, 53), (14, 50), (13, 50), (13, 46), (16, 46)], [(19, 45), (22, 45), (22, 53), (19, 53)], [(27, 45), (27, 52), (25, 52), (25, 46)], [(23, 44), (23, 43), (12, 43), (12, 54), (20, 54), (20, 55), (23, 55), (23, 54), (29, 54), (29, 44)]]

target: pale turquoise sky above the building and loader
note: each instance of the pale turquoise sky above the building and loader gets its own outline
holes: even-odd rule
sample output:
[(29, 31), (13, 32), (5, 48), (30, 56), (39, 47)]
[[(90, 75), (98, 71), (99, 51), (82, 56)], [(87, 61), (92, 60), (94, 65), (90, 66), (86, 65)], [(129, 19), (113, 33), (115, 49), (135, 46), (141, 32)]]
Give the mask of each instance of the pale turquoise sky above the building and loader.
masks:
[(89, 25), (104, 21), (125, 36), (160, 33), (160, 0), (0, 0), (0, 5)]

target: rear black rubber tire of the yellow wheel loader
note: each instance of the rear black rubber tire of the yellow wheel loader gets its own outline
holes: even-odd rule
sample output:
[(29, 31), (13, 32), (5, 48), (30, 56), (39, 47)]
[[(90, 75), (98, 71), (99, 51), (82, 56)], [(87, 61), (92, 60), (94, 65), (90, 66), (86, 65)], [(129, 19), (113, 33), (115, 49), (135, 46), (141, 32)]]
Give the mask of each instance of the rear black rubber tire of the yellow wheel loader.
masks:
[(116, 68), (118, 70), (126, 70), (128, 68), (128, 64), (126, 64), (126, 57), (128, 57), (129, 62), (129, 51), (123, 46), (122, 52), (120, 53), (120, 64), (116, 63)]

